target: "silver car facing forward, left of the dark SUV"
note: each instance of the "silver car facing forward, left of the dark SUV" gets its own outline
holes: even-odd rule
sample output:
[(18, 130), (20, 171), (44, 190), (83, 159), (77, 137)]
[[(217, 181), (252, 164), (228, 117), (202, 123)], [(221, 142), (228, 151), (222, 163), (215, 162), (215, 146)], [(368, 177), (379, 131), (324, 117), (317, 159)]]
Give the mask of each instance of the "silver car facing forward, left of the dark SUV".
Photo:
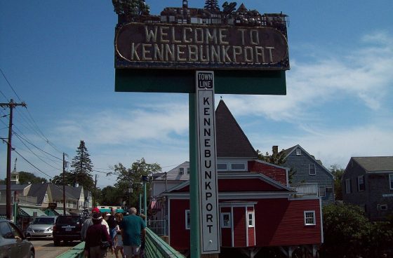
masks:
[(53, 237), (53, 225), (56, 222), (55, 216), (40, 216), (36, 217), (32, 224), (26, 229), (27, 238), (52, 238)]

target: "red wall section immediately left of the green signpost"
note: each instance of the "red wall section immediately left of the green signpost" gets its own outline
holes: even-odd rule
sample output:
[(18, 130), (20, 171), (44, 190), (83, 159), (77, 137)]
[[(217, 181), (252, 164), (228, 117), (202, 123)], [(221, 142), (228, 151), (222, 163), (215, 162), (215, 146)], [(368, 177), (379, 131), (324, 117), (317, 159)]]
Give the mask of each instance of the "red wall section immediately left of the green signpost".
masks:
[(185, 229), (185, 210), (189, 210), (189, 200), (171, 200), (169, 236), (171, 246), (176, 250), (189, 249), (189, 229)]

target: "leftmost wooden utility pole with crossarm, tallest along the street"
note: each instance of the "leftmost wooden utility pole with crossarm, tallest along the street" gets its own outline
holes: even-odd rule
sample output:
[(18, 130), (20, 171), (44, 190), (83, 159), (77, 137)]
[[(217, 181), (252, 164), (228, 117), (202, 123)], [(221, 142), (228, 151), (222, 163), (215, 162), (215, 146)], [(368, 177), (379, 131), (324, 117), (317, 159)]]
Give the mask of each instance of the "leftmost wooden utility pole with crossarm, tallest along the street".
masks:
[(10, 122), (8, 125), (8, 144), (7, 144), (7, 179), (6, 179), (6, 216), (7, 219), (11, 220), (11, 151), (12, 151), (12, 120), (13, 120), (13, 108), (17, 106), (26, 107), (26, 103), (15, 103), (13, 99), (9, 103), (0, 103), (0, 107), (8, 107), (10, 109)]

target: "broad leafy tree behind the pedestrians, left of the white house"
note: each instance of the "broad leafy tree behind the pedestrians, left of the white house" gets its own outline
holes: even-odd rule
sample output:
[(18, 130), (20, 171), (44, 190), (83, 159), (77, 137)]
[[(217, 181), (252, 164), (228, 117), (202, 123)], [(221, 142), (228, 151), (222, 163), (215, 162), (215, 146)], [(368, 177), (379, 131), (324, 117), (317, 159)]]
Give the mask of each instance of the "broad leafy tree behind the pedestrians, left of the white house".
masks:
[[(119, 196), (126, 201), (128, 207), (137, 206), (139, 194), (143, 193), (142, 176), (150, 176), (156, 172), (161, 171), (161, 166), (157, 163), (146, 163), (145, 158), (132, 163), (131, 168), (124, 167), (119, 163), (114, 165), (114, 172), (109, 173), (117, 175), (116, 184), (114, 186), (119, 189)], [(133, 193), (128, 193), (128, 188), (132, 184)], [(147, 182), (147, 189), (150, 188), (150, 183)]]

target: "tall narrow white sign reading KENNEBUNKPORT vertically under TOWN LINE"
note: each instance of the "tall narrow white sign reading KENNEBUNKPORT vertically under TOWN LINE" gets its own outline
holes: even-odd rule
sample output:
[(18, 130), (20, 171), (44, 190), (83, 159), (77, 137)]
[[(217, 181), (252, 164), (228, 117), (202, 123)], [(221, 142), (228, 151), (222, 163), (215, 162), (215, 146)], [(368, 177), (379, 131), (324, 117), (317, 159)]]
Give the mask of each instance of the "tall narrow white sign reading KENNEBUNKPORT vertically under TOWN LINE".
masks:
[(214, 72), (196, 72), (199, 218), (201, 253), (220, 253), (218, 186), (215, 156)]

